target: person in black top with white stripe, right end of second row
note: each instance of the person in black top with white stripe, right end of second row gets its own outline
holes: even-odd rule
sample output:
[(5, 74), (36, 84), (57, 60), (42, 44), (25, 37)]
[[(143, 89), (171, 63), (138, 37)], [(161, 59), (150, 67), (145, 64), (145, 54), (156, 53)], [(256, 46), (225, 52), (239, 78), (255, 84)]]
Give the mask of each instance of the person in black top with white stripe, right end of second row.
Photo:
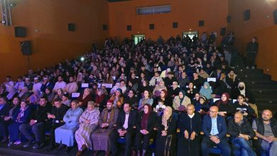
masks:
[(234, 108), (236, 111), (240, 111), (244, 118), (247, 118), (249, 121), (252, 121), (257, 117), (254, 109), (245, 101), (245, 96), (239, 94), (237, 101), (234, 103)]

